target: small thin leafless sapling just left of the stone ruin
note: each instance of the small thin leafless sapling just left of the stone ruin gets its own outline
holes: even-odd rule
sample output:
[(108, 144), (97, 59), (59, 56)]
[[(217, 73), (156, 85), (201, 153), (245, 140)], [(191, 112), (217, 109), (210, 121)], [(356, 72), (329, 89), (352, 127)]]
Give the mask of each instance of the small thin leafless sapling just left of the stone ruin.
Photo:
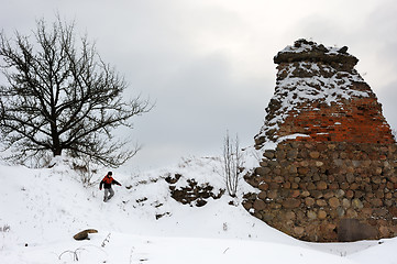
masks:
[(227, 190), (231, 197), (235, 197), (241, 178), (242, 155), (239, 146), (239, 136), (236, 135), (234, 141), (230, 140), (229, 131), (223, 140), (222, 165)]

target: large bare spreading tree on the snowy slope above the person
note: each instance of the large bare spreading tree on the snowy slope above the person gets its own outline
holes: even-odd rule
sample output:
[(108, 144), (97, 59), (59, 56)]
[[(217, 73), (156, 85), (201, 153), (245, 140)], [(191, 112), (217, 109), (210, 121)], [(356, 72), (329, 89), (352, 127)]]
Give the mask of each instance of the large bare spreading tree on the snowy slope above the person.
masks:
[(26, 163), (65, 151), (117, 167), (136, 153), (113, 132), (132, 128), (130, 119), (152, 106), (140, 97), (123, 100), (124, 78), (87, 35), (75, 37), (74, 23), (58, 18), (47, 26), (42, 19), (32, 36), (16, 32), (13, 40), (1, 32), (0, 57), (8, 80), (0, 86), (0, 133), (13, 151), (10, 160)]

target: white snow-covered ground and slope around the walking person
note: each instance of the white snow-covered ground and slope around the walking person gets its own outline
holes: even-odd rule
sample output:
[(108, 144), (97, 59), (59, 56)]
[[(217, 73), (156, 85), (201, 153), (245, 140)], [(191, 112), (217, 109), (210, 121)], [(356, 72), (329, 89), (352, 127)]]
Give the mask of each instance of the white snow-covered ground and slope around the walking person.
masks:
[[(145, 173), (113, 176), (102, 201), (98, 182), (82, 187), (67, 165), (29, 169), (0, 165), (0, 263), (397, 263), (397, 239), (307, 243), (253, 218), (224, 195), (203, 207), (175, 201), (165, 182), (195, 178), (223, 188), (217, 158), (190, 158)], [(95, 175), (101, 179), (107, 172)], [(250, 188), (241, 183), (241, 188)], [(234, 205), (230, 205), (233, 201)], [(156, 216), (163, 216), (156, 219)], [(90, 240), (73, 235), (97, 229)]]

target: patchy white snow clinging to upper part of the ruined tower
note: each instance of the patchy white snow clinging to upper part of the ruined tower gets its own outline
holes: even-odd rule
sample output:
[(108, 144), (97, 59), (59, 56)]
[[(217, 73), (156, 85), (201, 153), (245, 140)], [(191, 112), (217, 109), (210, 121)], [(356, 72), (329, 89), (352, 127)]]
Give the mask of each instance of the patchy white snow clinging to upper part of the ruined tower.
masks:
[[(283, 52), (302, 52), (310, 45), (302, 44), (300, 47), (288, 47)], [(333, 51), (333, 50), (332, 50)], [(308, 77), (296, 76), (296, 72), (306, 73)], [(327, 72), (324, 76), (322, 73)], [(275, 110), (274, 117), (271, 120), (265, 120), (258, 136), (266, 136), (266, 132), (271, 130), (278, 130), (279, 125), (284, 123), (285, 119), (291, 114), (299, 113), (299, 106), (305, 103), (312, 105), (313, 101), (319, 101), (331, 106), (333, 103), (343, 106), (343, 100), (352, 98), (371, 97), (371, 90), (355, 90), (354, 82), (364, 82), (364, 79), (356, 70), (341, 72), (330, 65), (322, 64), (321, 67), (312, 62), (289, 63), (277, 73), (277, 81), (275, 94), (271, 102), (278, 102), (279, 107)], [(275, 142), (275, 139), (267, 139), (267, 141)]]

